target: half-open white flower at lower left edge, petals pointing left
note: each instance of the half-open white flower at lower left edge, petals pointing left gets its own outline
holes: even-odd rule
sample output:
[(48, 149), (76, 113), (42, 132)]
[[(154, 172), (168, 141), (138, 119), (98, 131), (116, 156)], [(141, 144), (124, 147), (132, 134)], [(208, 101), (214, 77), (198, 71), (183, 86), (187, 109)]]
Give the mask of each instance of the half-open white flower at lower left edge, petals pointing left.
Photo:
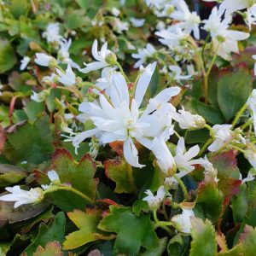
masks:
[(38, 203), (43, 200), (43, 190), (40, 188), (30, 189), (26, 191), (20, 189), (20, 186), (14, 186), (13, 188), (5, 188), (10, 194), (0, 196), (0, 201), (15, 201), (15, 208), (21, 205)]

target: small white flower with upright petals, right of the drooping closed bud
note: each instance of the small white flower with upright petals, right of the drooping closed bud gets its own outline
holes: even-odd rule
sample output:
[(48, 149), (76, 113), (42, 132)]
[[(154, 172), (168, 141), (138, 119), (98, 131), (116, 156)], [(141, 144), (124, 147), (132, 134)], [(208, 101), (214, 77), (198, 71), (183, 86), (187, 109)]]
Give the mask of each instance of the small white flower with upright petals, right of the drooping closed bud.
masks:
[(189, 148), (186, 152), (185, 142), (183, 137), (180, 137), (177, 142), (176, 155), (174, 157), (177, 169), (180, 172), (192, 172), (195, 169), (195, 162), (192, 160), (200, 151), (198, 145)]

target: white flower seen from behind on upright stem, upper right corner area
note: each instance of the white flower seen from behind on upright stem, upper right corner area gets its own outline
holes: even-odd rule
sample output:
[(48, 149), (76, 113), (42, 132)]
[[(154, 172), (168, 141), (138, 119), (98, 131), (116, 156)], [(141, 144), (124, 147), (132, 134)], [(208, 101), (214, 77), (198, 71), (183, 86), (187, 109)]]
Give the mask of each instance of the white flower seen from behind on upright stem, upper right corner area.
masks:
[(212, 9), (212, 14), (208, 20), (204, 20), (204, 29), (211, 32), (212, 44), (215, 51), (218, 50), (218, 55), (225, 60), (230, 60), (230, 53), (239, 53), (237, 41), (247, 39), (250, 34), (246, 32), (239, 32), (229, 30), (231, 21), (230, 16), (225, 16), (222, 20), (222, 15), (218, 13), (217, 7)]

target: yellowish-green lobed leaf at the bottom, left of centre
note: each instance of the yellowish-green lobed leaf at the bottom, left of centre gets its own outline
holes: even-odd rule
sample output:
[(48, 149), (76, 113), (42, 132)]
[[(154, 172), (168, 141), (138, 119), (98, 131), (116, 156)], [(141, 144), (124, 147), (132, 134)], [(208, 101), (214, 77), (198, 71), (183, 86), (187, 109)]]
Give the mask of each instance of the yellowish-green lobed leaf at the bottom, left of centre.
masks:
[(66, 236), (63, 242), (63, 247), (66, 250), (81, 247), (90, 241), (98, 240), (96, 233), (102, 232), (98, 230), (97, 225), (102, 219), (102, 211), (96, 209), (86, 209), (86, 212), (74, 210), (67, 213), (73, 223), (79, 228), (78, 231)]

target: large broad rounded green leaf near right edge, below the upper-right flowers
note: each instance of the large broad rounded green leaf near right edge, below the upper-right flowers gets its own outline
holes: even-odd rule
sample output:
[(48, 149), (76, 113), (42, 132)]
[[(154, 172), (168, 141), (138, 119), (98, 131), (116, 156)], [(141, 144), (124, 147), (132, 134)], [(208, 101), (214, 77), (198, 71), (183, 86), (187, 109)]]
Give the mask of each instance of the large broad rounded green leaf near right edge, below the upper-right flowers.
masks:
[(238, 66), (233, 72), (222, 74), (218, 80), (218, 105), (226, 120), (235, 116), (252, 90), (252, 76), (247, 67)]

